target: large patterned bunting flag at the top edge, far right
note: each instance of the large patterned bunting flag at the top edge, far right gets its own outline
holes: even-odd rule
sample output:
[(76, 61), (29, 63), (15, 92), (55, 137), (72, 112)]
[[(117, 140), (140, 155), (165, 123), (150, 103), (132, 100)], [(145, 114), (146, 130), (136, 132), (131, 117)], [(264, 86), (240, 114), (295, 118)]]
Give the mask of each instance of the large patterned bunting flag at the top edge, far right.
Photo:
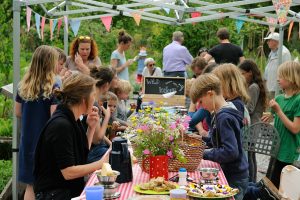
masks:
[(276, 14), (277, 14), (277, 18), (278, 18), (278, 22), (280, 24), (283, 24), (287, 21), (287, 12), (290, 9), (292, 0), (272, 0)]

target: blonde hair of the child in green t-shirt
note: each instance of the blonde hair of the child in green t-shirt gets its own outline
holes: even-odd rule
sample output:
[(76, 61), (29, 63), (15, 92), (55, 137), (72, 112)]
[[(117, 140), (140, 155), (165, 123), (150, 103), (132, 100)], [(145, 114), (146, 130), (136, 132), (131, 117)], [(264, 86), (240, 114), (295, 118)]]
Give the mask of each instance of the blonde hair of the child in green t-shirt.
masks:
[(278, 68), (278, 77), (291, 83), (291, 89), (298, 93), (300, 91), (300, 64), (288, 61)]

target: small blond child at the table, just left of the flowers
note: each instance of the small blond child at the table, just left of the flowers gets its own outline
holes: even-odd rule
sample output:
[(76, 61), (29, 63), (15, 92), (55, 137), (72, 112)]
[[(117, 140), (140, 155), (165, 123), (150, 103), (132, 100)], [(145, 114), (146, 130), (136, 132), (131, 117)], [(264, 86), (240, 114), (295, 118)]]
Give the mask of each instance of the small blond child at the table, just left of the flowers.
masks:
[(128, 126), (127, 118), (132, 114), (135, 109), (135, 105), (131, 104), (131, 108), (127, 110), (127, 100), (130, 92), (132, 91), (132, 86), (129, 81), (120, 80), (118, 87), (115, 89), (115, 94), (118, 97), (117, 115), (118, 121), (125, 126)]

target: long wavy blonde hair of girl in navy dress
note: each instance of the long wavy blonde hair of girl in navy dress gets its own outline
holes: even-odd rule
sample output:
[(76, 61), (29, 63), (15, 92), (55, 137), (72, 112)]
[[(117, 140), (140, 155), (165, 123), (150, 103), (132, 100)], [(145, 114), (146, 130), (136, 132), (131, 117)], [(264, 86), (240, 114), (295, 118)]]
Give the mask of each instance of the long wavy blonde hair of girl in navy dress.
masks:
[(50, 98), (54, 85), (54, 68), (58, 62), (55, 48), (42, 45), (36, 48), (29, 69), (19, 83), (19, 95), (25, 101), (33, 101), (40, 96)]

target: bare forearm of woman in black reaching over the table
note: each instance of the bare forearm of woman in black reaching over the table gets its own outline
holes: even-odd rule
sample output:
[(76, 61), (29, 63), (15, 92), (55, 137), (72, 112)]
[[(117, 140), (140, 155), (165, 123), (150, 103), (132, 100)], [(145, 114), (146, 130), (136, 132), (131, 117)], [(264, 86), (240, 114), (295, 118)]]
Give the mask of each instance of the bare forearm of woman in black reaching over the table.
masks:
[(98, 169), (100, 169), (103, 163), (107, 163), (109, 160), (110, 151), (107, 151), (101, 160), (96, 162), (85, 164), (85, 165), (77, 165), (67, 167), (65, 169), (60, 170), (65, 180), (72, 180), (76, 178), (80, 178), (86, 176)]

